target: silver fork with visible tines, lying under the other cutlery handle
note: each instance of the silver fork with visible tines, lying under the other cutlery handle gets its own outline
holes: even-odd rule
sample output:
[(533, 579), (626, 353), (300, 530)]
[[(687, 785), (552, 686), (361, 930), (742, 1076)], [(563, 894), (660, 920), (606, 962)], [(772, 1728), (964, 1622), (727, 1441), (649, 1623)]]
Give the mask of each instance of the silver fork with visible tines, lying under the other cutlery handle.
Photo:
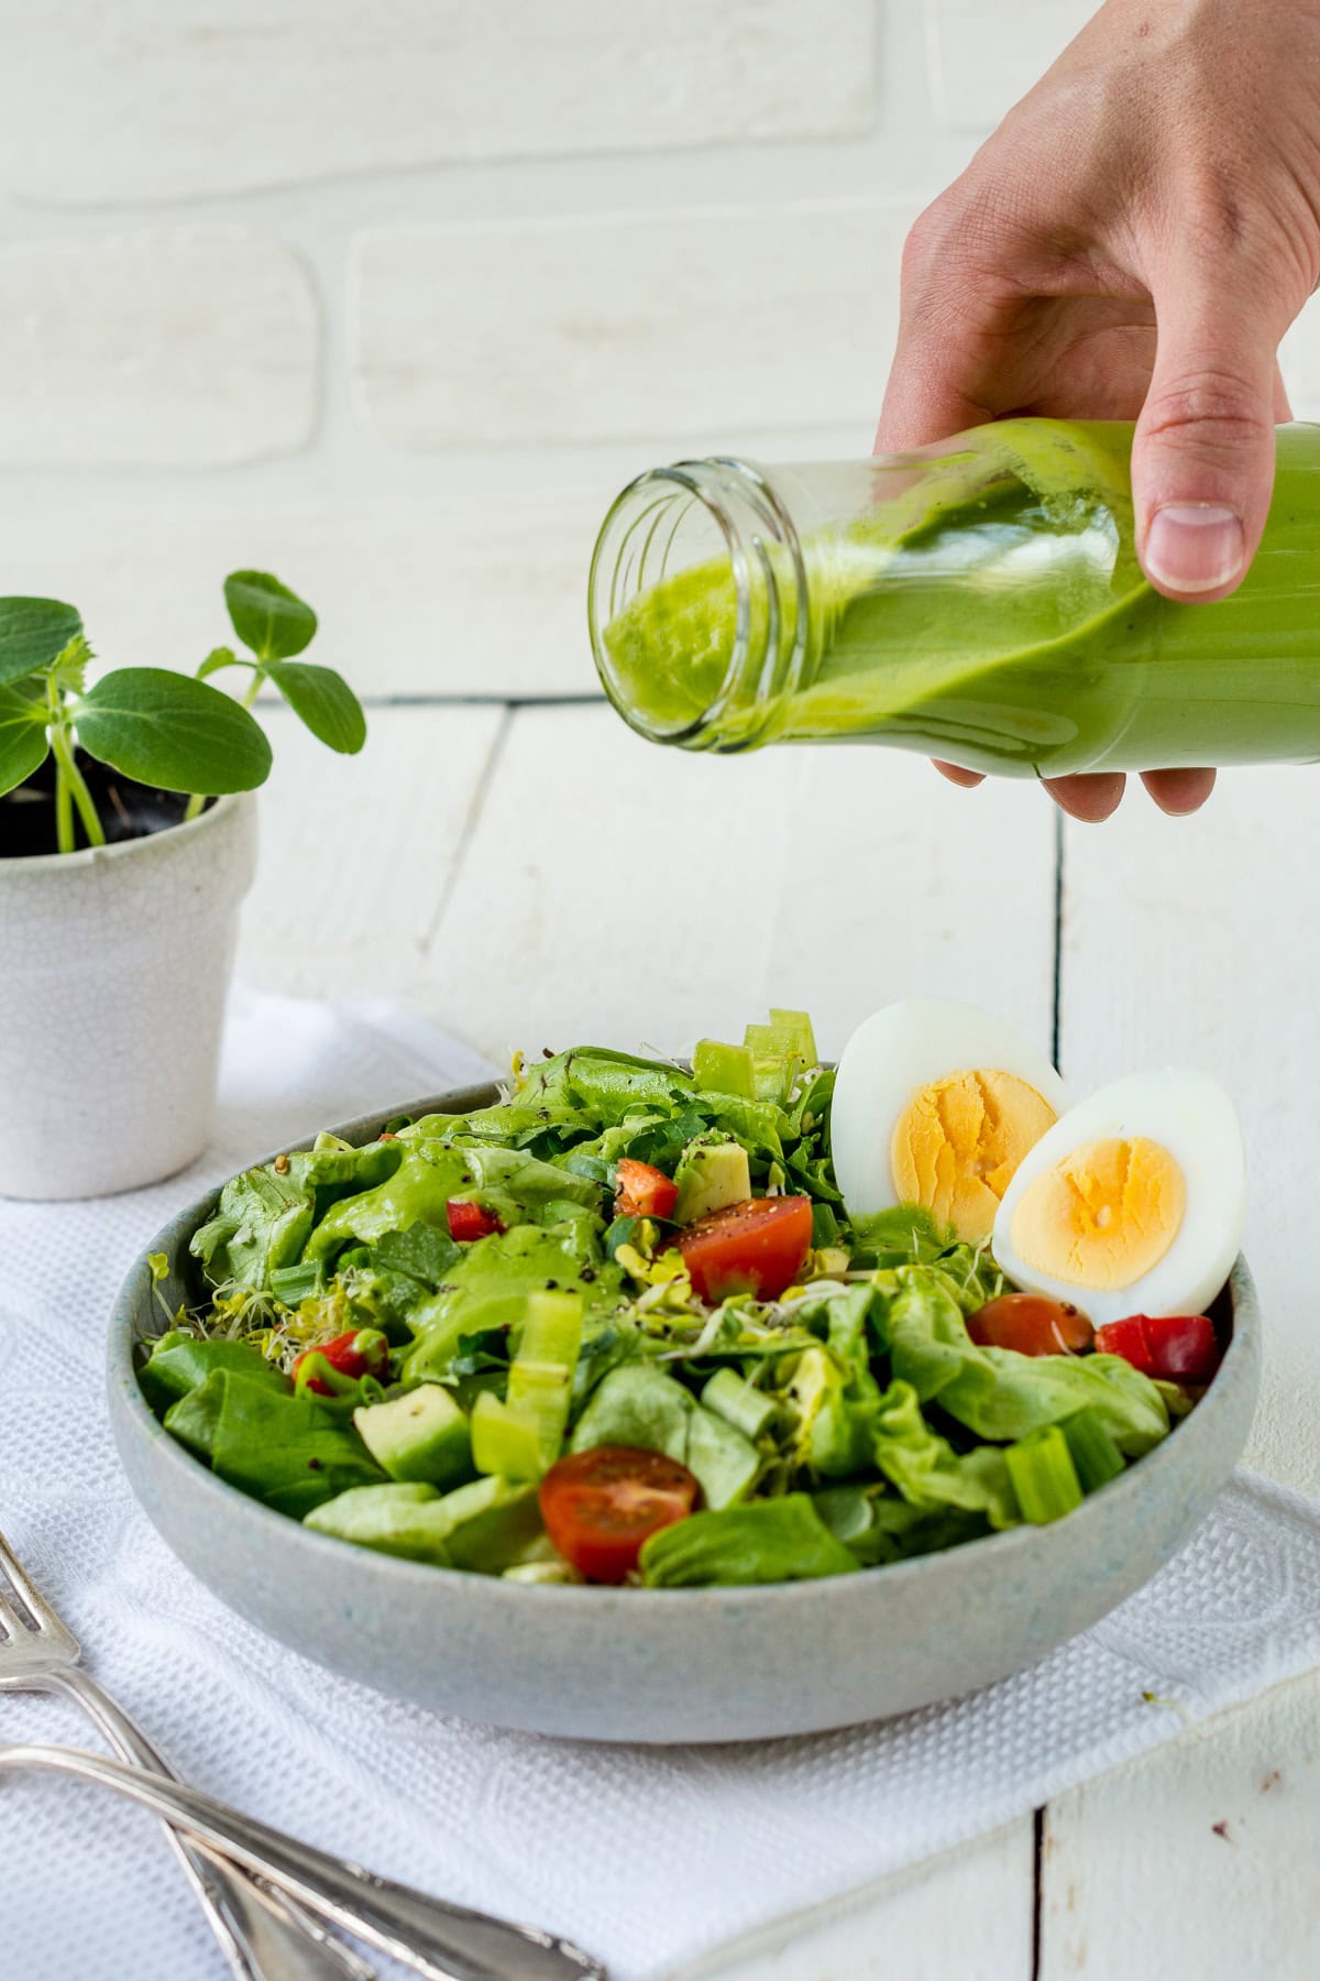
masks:
[[(57, 1692), (101, 1727), (123, 1761), (176, 1777), (141, 1727), (79, 1664), (79, 1642), (0, 1533), (0, 1692)], [(376, 1969), (293, 1900), (210, 1856), (168, 1823), (164, 1834), (237, 1981), (376, 1981)]]

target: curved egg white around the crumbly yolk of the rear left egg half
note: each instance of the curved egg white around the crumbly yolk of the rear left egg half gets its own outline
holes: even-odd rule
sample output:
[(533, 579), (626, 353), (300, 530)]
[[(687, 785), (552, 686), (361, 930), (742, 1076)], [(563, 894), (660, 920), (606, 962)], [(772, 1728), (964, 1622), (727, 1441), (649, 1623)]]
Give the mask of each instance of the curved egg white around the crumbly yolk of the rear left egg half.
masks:
[(1055, 1113), (1067, 1105), (1063, 1080), (1045, 1054), (976, 1004), (902, 998), (857, 1026), (839, 1060), (829, 1115), (835, 1177), (851, 1216), (875, 1216), (900, 1202), (891, 1151), (912, 1095), (976, 1070), (1025, 1080)]

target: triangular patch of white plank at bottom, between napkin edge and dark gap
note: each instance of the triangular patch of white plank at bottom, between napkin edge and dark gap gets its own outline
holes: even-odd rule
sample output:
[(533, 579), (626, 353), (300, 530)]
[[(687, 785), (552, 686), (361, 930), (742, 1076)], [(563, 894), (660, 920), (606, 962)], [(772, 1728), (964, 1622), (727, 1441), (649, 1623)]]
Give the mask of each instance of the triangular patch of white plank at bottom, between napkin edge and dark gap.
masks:
[(1027, 1817), (673, 1981), (1029, 1981), (1033, 1854)]

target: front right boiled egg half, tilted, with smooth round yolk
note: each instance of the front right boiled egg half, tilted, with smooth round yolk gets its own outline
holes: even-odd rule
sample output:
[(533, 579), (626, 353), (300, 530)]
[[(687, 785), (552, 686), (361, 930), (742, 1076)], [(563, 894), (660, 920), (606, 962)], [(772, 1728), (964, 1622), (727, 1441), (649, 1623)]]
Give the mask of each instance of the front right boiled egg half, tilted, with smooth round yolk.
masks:
[(1128, 1074), (1041, 1135), (999, 1204), (995, 1262), (1027, 1294), (1128, 1313), (1201, 1313), (1243, 1236), (1237, 1111), (1207, 1074)]

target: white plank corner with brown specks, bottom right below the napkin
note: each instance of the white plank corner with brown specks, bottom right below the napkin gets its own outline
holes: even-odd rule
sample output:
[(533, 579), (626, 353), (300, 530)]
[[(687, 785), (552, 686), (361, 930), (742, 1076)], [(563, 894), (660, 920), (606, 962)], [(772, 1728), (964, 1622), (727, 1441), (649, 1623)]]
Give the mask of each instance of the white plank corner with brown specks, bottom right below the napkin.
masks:
[(1041, 1977), (1310, 1981), (1320, 1672), (1051, 1805)]

